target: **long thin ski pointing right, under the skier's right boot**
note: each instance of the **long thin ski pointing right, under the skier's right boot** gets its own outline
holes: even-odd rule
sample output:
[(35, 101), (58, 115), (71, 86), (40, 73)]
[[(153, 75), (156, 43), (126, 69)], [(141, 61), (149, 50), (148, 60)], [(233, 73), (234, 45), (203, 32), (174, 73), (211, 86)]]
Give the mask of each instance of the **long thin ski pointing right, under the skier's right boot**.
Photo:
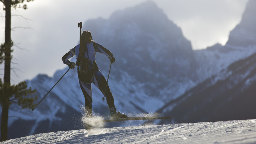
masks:
[(100, 120), (97, 123), (107, 123), (107, 122), (114, 122), (114, 121), (125, 121), (125, 120), (159, 120), (159, 119), (170, 119), (173, 116), (169, 117), (126, 117), (126, 118), (118, 118), (118, 119), (107, 119), (107, 120)]

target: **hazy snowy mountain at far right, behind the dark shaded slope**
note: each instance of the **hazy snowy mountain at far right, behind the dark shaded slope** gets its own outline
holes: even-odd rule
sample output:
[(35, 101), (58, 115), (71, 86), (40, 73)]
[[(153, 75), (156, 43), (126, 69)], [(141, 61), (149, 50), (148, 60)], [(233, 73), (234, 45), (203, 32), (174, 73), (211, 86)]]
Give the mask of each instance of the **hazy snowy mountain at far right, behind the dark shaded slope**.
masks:
[(249, 0), (241, 22), (230, 32), (225, 46), (216, 44), (205, 50), (195, 50), (200, 80), (205, 80), (227, 68), (231, 63), (252, 55), (256, 45), (256, 1)]

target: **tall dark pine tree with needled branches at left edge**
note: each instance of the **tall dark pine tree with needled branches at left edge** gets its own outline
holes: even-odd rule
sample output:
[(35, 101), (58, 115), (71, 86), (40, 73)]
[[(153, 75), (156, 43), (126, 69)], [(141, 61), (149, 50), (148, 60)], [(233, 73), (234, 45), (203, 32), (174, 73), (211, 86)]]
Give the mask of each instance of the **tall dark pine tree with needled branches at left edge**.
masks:
[[(33, 0), (26, 0), (31, 2)], [(1, 121), (1, 139), (0, 141), (7, 140), (8, 132), (8, 111), (12, 103), (20, 105), (22, 108), (32, 108), (33, 101), (37, 98), (25, 98), (35, 90), (27, 89), (25, 81), (20, 82), (18, 85), (11, 85), (11, 47), (13, 42), (11, 40), (11, 8), (24, 8), (27, 5), (23, 4), (24, 0), (0, 0), (4, 4), (5, 10), (5, 42), (0, 46), (0, 64), (4, 62), (4, 79), (0, 79), (0, 105), (2, 107), (2, 121)], [(18, 6), (19, 4), (19, 6)]]

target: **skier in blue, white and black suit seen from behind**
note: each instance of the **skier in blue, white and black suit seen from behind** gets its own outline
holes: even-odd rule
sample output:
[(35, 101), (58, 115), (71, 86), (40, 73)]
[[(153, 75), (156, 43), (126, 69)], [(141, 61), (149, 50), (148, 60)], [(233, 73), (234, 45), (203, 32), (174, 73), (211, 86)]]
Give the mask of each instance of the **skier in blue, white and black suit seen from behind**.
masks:
[[(126, 114), (116, 111), (113, 95), (105, 77), (99, 71), (99, 68), (95, 62), (96, 52), (106, 55), (110, 59), (111, 63), (115, 62), (115, 58), (109, 50), (93, 41), (92, 35), (89, 31), (83, 31), (80, 38), (80, 44), (72, 48), (62, 57), (63, 63), (67, 64), (69, 68), (73, 69), (75, 68), (75, 65), (77, 65), (79, 84), (85, 97), (86, 116), (92, 117), (93, 98), (91, 84), (93, 83), (106, 97), (111, 117), (127, 117)], [(76, 55), (76, 63), (68, 60), (74, 55)]]

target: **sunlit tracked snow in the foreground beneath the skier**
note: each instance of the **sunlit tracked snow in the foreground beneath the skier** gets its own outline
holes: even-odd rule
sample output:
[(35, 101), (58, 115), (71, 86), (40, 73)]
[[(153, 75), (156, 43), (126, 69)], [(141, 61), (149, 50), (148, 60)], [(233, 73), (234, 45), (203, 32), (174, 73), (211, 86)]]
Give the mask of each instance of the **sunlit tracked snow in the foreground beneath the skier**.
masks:
[(256, 120), (143, 125), (39, 133), (1, 144), (256, 143)]

